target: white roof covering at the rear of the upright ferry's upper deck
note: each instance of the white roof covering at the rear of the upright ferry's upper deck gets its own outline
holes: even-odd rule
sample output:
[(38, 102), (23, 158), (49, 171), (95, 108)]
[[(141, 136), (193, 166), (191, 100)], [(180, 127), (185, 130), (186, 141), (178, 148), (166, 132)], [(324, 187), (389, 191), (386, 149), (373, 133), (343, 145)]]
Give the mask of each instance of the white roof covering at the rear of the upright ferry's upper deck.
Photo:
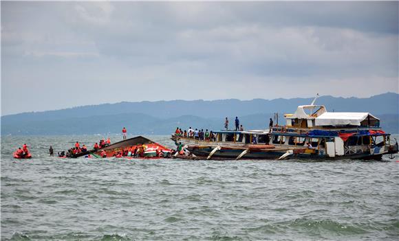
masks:
[(367, 112), (325, 112), (314, 119), (316, 126), (360, 126), (367, 117), (378, 119)]

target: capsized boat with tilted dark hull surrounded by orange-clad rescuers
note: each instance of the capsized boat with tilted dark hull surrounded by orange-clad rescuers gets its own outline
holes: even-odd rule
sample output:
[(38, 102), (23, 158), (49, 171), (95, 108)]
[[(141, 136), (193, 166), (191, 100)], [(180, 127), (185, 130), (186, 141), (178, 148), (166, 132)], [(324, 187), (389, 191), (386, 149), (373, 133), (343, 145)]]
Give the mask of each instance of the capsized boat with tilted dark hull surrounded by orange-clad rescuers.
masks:
[(119, 141), (115, 144), (106, 146), (105, 148), (91, 150), (90, 152), (93, 152), (98, 157), (101, 156), (103, 150), (107, 153), (107, 157), (122, 157), (121, 153), (128, 152), (125, 156), (132, 158), (133, 153), (131, 152), (136, 148), (137, 150), (141, 150), (142, 153), (133, 158), (158, 159), (171, 157), (171, 149), (142, 136), (126, 139), (125, 141)]

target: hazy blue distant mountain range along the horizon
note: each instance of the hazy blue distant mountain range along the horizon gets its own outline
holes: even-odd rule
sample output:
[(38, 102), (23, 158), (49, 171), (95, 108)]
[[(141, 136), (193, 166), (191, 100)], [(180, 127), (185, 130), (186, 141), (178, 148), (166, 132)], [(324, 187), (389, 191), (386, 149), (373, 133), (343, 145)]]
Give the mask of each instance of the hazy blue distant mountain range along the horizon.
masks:
[[(224, 117), (230, 117), (233, 123), (235, 116), (246, 129), (259, 129), (266, 128), (272, 113), (278, 112), (282, 118), (283, 113), (293, 113), (296, 106), (310, 104), (312, 100), (173, 100), (80, 106), (2, 116), (1, 135), (107, 134), (120, 133), (123, 126), (134, 134), (169, 134), (177, 126), (220, 130)], [(327, 111), (372, 113), (380, 117), (385, 130), (399, 133), (398, 100), (397, 93), (369, 98), (321, 96), (316, 104), (325, 105)]]

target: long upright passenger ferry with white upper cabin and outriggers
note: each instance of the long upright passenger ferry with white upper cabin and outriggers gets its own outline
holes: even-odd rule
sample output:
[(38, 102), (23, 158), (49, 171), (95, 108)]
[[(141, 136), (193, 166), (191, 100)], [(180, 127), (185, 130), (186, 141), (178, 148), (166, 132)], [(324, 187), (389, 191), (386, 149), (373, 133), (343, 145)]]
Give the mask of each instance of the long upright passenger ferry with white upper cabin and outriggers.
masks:
[[(313, 102), (314, 103), (314, 102)], [(330, 113), (321, 105), (298, 106), (284, 126), (269, 130), (215, 131), (215, 140), (172, 135), (197, 157), (225, 159), (375, 159), (398, 153), (398, 143), (370, 113)]]

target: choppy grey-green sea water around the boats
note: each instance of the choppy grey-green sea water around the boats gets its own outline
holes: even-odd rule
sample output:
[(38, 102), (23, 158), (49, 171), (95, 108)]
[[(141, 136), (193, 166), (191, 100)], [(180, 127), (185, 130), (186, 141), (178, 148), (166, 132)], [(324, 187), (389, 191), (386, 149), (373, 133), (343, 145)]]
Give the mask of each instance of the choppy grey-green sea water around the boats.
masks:
[[(397, 240), (399, 163), (58, 159), (2, 137), (1, 240)], [(111, 139), (120, 137), (111, 137)], [(173, 146), (168, 137), (149, 137)], [(34, 159), (15, 160), (23, 143)]]

